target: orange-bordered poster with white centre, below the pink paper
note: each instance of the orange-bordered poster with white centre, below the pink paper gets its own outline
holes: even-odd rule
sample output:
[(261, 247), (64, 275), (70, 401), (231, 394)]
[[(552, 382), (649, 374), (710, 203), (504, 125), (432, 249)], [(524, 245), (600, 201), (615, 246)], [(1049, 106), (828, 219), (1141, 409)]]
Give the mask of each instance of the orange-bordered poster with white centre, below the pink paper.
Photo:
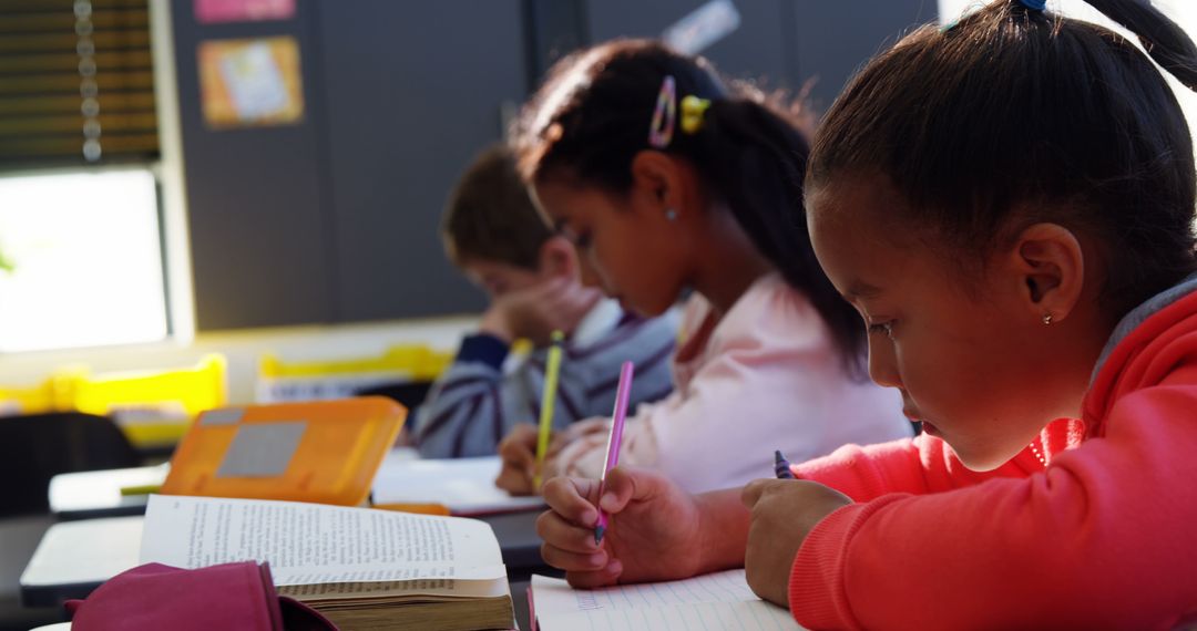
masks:
[(303, 120), (299, 44), (293, 37), (201, 42), (200, 98), (212, 129)]

